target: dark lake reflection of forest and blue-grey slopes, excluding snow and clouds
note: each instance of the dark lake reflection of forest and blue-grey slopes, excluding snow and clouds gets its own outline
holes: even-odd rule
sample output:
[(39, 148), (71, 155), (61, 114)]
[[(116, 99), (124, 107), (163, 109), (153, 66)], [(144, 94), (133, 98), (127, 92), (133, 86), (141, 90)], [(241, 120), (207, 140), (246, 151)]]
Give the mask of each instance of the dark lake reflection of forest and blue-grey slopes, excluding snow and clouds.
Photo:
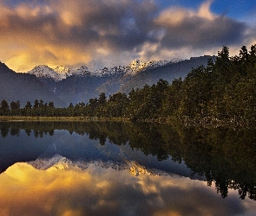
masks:
[(133, 160), (167, 173), (206, 179), (222, 198), (233, 188), (240, 199), (256, 200), (255, 130), (111, 122), (5, 122), (0, 130), (1, 172), (15, 162), (56, 154), (73, 161), (112, 161), (119, 167)]

